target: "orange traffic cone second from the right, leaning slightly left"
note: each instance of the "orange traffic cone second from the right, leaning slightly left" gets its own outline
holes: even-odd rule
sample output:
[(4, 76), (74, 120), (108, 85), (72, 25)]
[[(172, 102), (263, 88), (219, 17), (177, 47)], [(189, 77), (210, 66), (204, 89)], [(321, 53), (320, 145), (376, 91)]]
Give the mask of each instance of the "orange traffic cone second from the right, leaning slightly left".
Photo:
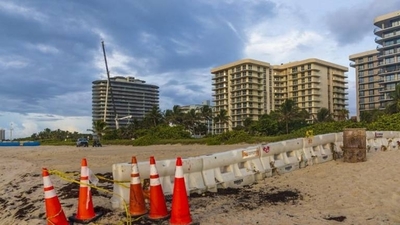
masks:
[(156, 161), (150, 157), (150, 212), (149, 219), (158, 220), (167, 218), (167, 204), (165, 203), (164, 192), (158, 176)]

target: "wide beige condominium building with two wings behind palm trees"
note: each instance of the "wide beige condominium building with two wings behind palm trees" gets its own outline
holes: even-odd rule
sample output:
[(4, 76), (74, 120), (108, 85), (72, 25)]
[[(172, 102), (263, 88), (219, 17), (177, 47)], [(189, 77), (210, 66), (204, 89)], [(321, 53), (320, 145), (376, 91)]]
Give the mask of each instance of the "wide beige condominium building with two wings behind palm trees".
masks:
[(273, 66), (243, 59), (216, 67), (211, 70), (214, 116), (225, 110), (230, 119), (215, 123), (214, 132), (243, 125), (246, 118), (258, 120), (286, 99), (293, 99), (312, 115), (324, 107), (338, 118), (348, 105), (347, 71), (347, 67), (315, 58)]

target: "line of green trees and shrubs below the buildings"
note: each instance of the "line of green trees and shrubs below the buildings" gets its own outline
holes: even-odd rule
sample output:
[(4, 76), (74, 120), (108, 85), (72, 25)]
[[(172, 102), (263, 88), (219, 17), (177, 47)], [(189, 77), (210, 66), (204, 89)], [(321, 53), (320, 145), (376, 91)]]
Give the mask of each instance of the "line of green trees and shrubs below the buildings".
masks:
[[(362, 124), (373, 123), (383, 115), (400, 113), (400, 85), (396, 86), (395, 91), (390, 94), (391, 100), (387, 103), (384, 110), (363, 111), (360, 114)], [(349, 120), (349, 111), (342, 109), (334, 115), (327, 108), (320, 108), (316, 115), (311, 115), (308, 111), (300, 109), (292, 99), (287, 99), (276, 110), (262, 115), (258, 120), (245, 118), (243, 125), (233, 127), (234, 131), (245, 132), (252, 136), (277, 136), (289, 134), (301, 130), (311, 124), (320, 123), (340, 123)], [(224, 109), (212, 112), (212, 108), (204, 105), (197, 109), (190, 109), (183, 113), (179, 105), (172, 109), (161, 111), (158, 106), (153, 108), (145, 115), (144, 119), (133, 120), (130, 124), (119, 129), (109, 129), (103, 121), (93, 121), (93, 133), (102, 139), (137, 139), (146, 135), (157, 135), (160, 138), (190, 138), (192, 135), (212, 136), (210, 124), (227, 123), (231, 120), (228, 112)], [(353, 121), (356, 123), (356, 121)], [(361, 124), (361, 125), (362, 125)], [(162, 134), (160, 134), (162, 133)], [(77, 139), (91, 134), (81, 134), (78, 132), (62, 131), (60, 129), (45, 130), (32, 134), (31, 138), (41, 139)]]

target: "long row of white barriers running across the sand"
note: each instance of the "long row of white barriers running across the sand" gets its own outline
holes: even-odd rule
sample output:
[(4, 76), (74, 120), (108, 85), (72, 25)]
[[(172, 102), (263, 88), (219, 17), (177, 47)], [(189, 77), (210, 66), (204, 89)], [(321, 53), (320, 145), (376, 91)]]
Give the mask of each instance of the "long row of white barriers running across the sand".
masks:
[[(399, 131), (367, 131), (370, 152), (398, 150)], [(331, 146), (331, 144), (333, 145)], [(182, 159), (187, 193), (216, 192), (218, 188), (238, 188), (276, 174), (292, 172), (315, 163), (333, 159), (333, 151), (343, 153), (343, 132), (298, 138), (264, 145), (234, 149), (227, 152)], [(157, 159), (157, 157), (155, 157)], [(165, 195), (173, 194), (176, 159), (156, 161), (157, 171)], [(142, 180), (149, 179), (149, 161), (139, 162)], [(112, 165), (114, 194), (113, 208), (129, 204), (131, 164)]]

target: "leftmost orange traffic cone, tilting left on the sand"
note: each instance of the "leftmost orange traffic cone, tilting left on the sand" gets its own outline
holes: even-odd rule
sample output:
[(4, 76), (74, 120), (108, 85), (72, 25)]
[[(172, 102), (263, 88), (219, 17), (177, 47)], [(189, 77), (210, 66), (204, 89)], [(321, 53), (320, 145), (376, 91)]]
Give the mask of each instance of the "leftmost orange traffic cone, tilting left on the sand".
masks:
[(42, 177), (47, 225), (69, 225), (46, 168), (42, 169)]

